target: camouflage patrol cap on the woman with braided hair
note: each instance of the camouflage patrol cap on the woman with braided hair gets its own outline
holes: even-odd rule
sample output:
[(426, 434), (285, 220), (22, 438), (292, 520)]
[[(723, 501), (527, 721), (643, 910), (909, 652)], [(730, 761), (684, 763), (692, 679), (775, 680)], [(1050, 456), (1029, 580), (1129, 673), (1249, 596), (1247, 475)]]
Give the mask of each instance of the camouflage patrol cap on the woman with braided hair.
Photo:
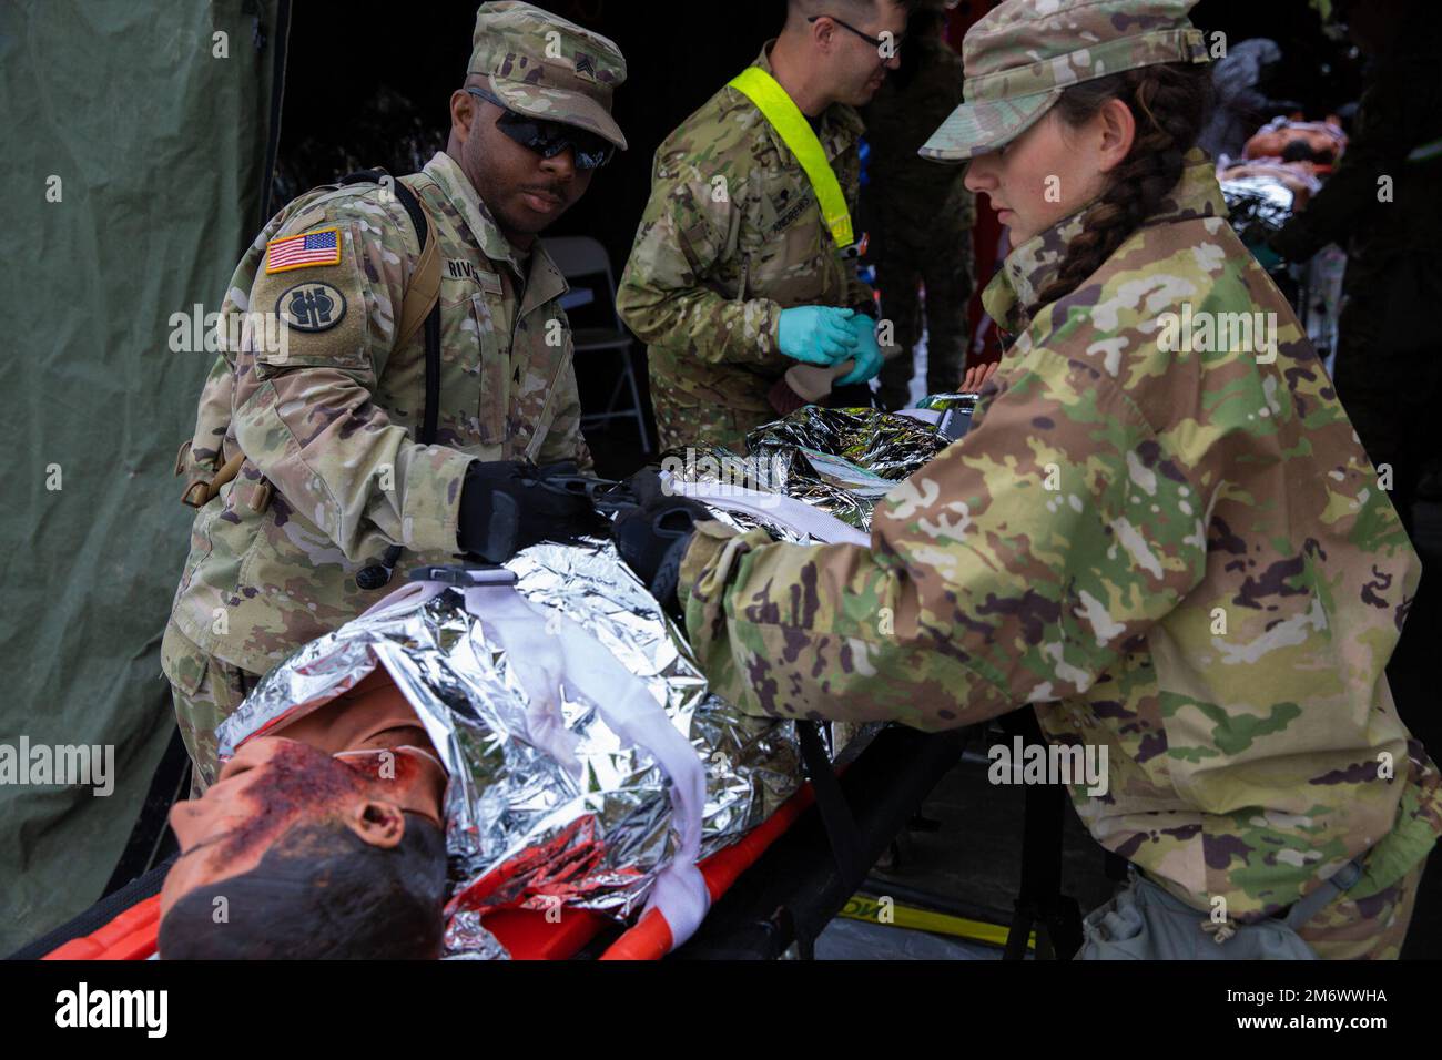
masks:
[(1197, 0), (1007, 0), (966, 32), (965, 100), (932, 134), (924, 159), (966, 162), (1002, 147), (1061, 92), (1159, 62), (1207, 62)]

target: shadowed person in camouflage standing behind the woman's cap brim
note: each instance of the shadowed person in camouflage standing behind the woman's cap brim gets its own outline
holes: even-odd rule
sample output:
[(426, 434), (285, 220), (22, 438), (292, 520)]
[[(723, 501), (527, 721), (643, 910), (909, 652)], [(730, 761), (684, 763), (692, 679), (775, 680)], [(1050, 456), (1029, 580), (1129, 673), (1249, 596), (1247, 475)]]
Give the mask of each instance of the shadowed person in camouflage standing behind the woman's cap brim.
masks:
[(976, 203), (956, 166), (917, 156), (962, 102), (962, 56), (940, 35), (940, 0), (920, 4), (907, 25), (901, 69), (862, 111), (871, 154), (861, 190), (871, 226), (881, 314), (897, 350), (881, 369), (883, 408), (906, 408), (921, 340), (920, 287), (926, 288), (926, 392), (960, 385), (966, 355), (966, 301), (972, 297), (972, 224)]

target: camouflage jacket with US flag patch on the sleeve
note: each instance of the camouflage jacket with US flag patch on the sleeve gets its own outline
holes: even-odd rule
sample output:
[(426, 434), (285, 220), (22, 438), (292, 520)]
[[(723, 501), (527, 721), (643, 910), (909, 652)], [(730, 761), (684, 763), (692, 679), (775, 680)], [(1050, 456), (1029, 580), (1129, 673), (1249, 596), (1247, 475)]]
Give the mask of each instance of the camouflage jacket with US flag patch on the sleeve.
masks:
[[(294, 313), (297, 287), (329, 291), (333, 303), (323, 330), (313, 319), (300, 322), (311, 330), (257, 326), (221, 353), (177, 469), (208, 476), (245, 453), (236, 479), (195, 516), (173, 620), (203, 650), (255, 673), (353, 619), (410, 568), (451, 561), (473, 460), (590, 464), (561, 273), (539, 244), (528, 271), (518, 270), (447, 154), (401, 179), (425, 206), (441, 254), (437, 444), (412, 440), (424, 329), (392, 349), (420, 244), (389, 189), (323, 187), (293, 202), (242, 258), (222, 306), (226, 317)], [(268, 241), (326, 229), (337, 232), (339, 262), (267, 273)], [(392, 544), (407, 551), (389, 586), (359, 588), (356, 571)]]

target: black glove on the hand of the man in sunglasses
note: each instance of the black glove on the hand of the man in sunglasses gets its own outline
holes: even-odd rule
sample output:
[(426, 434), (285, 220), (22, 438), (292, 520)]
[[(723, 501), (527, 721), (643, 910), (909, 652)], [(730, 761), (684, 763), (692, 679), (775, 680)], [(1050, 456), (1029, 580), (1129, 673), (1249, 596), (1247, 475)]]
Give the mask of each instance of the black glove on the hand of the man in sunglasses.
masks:
[(598, 534), (604, 524), (574, 463), (534, 464), (496, 460), (466, 469), (456, 538), (463, 552), (505, 562), (538, 541)]

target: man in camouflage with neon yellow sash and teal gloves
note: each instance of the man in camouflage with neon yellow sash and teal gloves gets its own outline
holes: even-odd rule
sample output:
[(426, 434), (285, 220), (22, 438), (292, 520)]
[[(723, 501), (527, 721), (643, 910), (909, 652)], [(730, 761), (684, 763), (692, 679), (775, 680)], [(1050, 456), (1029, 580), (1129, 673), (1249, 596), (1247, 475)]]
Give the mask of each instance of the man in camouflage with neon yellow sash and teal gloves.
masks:
[[(806, 20), (831, 9), (859, 12), (851, 16), (858, 29)], [(792, 0), (782, 36), (753, 63), (800, 97), (852, 215), (862, 124), (849, 104), (868, 100), (895, 65), (857, 33), (900, 39), (904, 17), (894, 0)], [(796, 88), (803, 78), (806, 95)], [(757, 105), (727, 85), (656, 150), (650, 202), (617, 290), (622, 317), (649, 345), (662, 450), (740, 447), (776, 417), (767, 394), (795, 363), (782, 350), (780, 319), (799, 306), (875, 314), (806, 172)]]

